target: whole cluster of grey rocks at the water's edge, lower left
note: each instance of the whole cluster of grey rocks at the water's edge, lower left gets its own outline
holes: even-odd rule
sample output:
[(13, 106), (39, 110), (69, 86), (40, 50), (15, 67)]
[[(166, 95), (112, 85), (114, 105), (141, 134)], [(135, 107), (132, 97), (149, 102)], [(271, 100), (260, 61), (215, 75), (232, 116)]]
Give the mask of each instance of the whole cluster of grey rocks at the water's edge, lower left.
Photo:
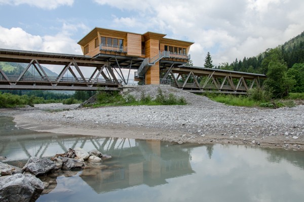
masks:
[[(0, 201), (35, 201), (50, 182), (42, 182), (37, 176), (58, 170), (82, 169), (85, 160), (90, 163), (100, 163), (111, 156), (103, 155), (98, 150), (90, 154), (82, 148), (69, 149), (64, 154), (55, 155), (51, 160), (47, 158), (31, 157), (20, 169), (8, 164), (0, 163)], [(51, 184), (52, 185), (52, 184)]]

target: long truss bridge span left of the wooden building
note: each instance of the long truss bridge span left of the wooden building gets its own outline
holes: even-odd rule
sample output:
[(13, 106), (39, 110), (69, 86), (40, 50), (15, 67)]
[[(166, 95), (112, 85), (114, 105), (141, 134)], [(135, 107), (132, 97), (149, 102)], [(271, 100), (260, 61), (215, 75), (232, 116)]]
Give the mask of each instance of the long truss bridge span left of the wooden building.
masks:
[[(2, 49), (0, 49), (2, 51)], [(102, 87), (105, 90), (119, 90), (122, 82), (128, 83), (130, 70), (132, 68), (132, 59), (129, 66), (128, 79), (126, 80), (119, 63), (118, 69), (111, 66), (108, 62), (90, 60), (88, 57), (72, 57), (70, 55), (50, 55), (45, 54), (26, 55), (27, 52), (16, 55), (11, 53), (0, 53), (0, 61), (22, 62), (27, 66), (20, 75), (6, 75), (0, 68), (0, 89), (48, 89), (48, 90), (97, 90)], [(11, 54), (11, 55), (10, 55)], [(60, 65), (61, 72), (56, 77), (47, 75), (42, 64)], [(64, 65), (62, 67), (62, 65)], [(81, 68), (82, 67), (82, 68)], [(85, 78), (84, 71), (86, 67), (95, 67), (90, 78)], [(29, 69), (35, 70), (38, 75), (29, 76)], [(118, 80), (116, 74), (122, 80)], [(90, 70), (91, 71), (91, 70)], [(70, 75), (68, 75), (68, 72)], [(79, 75), (79, 76), (77, 76)]]

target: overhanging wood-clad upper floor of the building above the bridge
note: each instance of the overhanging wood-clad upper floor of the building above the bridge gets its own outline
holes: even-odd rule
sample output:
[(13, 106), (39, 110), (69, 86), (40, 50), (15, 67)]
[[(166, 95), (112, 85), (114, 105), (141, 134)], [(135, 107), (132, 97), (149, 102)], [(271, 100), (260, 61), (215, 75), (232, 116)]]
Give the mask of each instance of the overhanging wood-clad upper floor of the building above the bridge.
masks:
[(166, 34), (146, 32), (144, 34), (95, 27), (78, 44), (83, 54), (94, 58), (112, 55), (117, 58), (152, 58), (160, 52), (169, 52), (169, 61), (187, 62), (189, 48), (193, 42), (165, 38)]

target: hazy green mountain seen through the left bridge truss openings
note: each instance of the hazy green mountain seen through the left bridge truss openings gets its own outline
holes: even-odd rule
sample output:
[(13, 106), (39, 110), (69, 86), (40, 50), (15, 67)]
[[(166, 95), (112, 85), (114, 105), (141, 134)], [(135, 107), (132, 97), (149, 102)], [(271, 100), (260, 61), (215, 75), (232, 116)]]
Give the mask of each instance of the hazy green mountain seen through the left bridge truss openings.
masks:
[[(24, 63), (11, 63), (11, 62), (0, 62), (0, 68), (7, 74), (7, 75), (20, 75), (24, 69), (26, 68), (27, 64)], [(48, 68), (42, 66), (44, 71), (48, 76), (58, 76), (55, 72), (52, 72)], [(39, 75), (35, 68), (30, 67), (26, 75)]]

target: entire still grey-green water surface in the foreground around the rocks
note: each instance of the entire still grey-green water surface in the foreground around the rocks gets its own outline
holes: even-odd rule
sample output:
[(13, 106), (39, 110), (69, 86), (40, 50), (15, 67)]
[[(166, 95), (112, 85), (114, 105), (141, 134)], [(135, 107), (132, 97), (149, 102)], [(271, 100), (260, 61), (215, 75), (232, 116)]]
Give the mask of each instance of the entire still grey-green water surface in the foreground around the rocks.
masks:
[(68, 148), (112, 159), (43, 177), (37, 201), (303, 201), (304, 153), (237, 145), (173, 144), (17, 129), (0, 116), (0, 156), (25, 164)]

